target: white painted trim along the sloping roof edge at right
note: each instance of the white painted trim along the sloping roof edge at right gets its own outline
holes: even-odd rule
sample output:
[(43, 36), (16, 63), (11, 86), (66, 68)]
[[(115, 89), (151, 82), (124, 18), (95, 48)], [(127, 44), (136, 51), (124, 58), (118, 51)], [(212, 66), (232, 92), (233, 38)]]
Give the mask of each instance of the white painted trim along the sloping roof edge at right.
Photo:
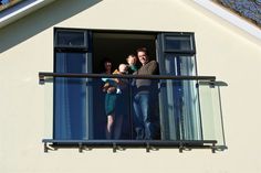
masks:
[(213, 12), (218, 17), (227, 20), (228, 22), (232, 23), (233, 25), (242, 29), (243, 31), (248, 32), (249, 34), (258, 37), (261, 40), (261, 30), (258, 26), (250, 24), (249, 22), (244, 21), (243, 19), (239, 18), (238, 15), (225, 10), (223, 8), (219, 7), (215, 2), (210, 0), (194, 0), (196, 3), (200, 4), (205, 9)]

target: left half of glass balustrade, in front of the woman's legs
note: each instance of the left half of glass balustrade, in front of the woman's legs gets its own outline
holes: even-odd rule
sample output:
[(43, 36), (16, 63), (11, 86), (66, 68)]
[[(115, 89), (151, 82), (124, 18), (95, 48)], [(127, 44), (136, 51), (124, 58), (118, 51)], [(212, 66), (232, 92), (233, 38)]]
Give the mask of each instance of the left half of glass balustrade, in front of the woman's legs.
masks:
[[(118, 104), (115, 105), (115, 132), (112, 140), (133, 139), (134, 136), (132, 89), (128, 79), (124, 80), (125, 86), (113, 90)], [(105, 85), (102, 78), (45, 78), (44, 137), (54, 140), (107, 139), (105, 99), (108, 94), (103, 89)]]

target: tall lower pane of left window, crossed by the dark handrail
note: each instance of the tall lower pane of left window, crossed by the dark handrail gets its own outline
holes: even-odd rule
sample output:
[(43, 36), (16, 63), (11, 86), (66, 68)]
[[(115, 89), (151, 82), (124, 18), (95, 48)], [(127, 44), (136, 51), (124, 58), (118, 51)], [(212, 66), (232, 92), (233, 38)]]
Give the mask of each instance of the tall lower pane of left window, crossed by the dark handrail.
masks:
[[(85, 54), (56, 53), (56, 73), (85, 73)], [(86, 138), (86, 79), (54, 80), (54, 139)]]

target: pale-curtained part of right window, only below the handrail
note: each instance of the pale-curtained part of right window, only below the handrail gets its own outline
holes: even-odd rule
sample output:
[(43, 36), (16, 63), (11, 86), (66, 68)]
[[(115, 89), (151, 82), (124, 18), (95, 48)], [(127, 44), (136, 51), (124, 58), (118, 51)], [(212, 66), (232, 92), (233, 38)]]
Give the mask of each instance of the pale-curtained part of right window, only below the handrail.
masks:
[(198, 90), (195, 80), (161, 80), (163, 139), (201, 140)]

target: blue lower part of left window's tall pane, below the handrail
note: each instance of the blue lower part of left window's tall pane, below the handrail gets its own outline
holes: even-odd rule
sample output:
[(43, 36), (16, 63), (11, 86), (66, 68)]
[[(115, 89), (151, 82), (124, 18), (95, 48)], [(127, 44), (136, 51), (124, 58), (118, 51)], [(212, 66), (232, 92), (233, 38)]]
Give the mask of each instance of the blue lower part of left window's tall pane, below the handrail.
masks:
[(54, 79), (54, 138), (86, 139), (86, 79)]

